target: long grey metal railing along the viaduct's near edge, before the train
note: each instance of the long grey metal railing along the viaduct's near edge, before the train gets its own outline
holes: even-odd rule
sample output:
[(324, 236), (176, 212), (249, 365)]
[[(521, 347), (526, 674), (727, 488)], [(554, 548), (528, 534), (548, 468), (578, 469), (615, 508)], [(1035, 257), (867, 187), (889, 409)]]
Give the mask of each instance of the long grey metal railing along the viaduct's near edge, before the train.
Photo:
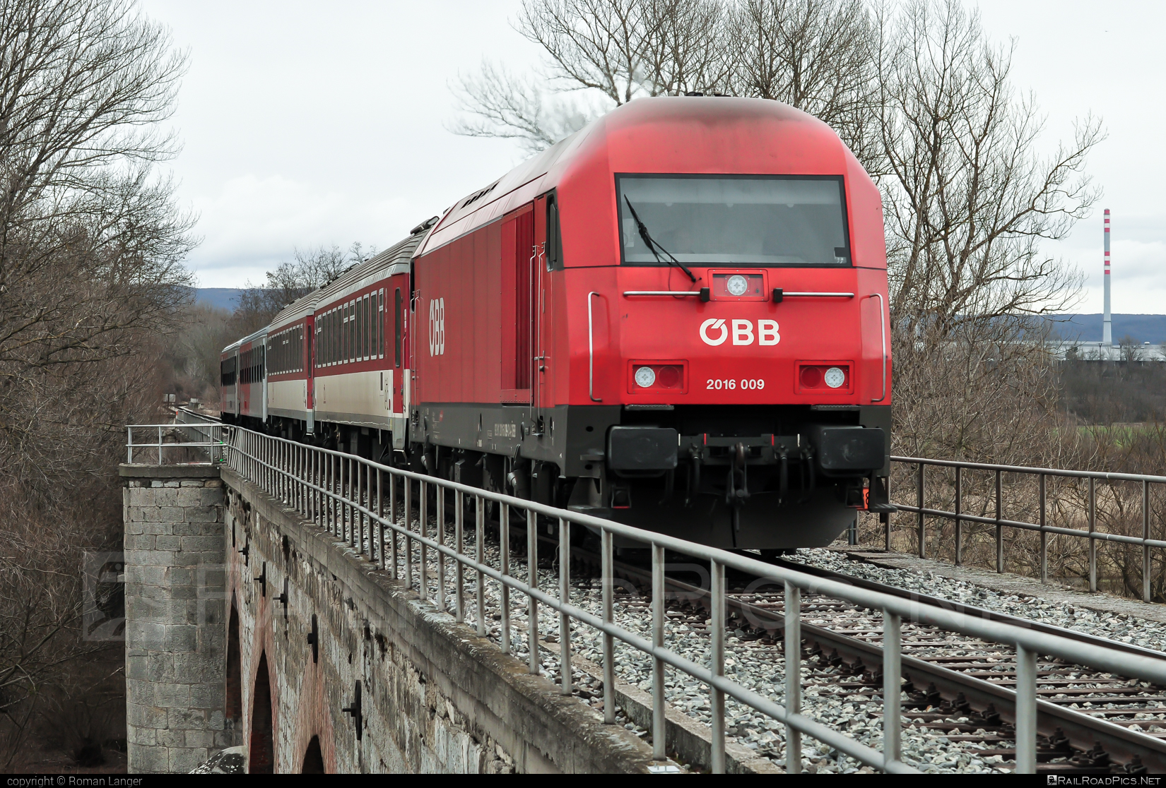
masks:
[[(154, 425), (145, 425), (154, 429)], [(143, 425), (131, 429), (143, 429)], [(1017, 653), (1017, 772), (1034, 773), (1037, 767), (1037, 656), (1047, 655), (1069, 663), (1166, 684), (1166, 660), (1111, 650), (1048, 633), (974, 618), (940, 606), (892, 597), (844, 583), (822, 579), (774, 567), (761, 561), (705, 547), (694, 542), (633, 528), (609, 520), (569, 512), (542, 504), (471, 487), (445, 479), (388, 467), (361, 457), (307, 446), (243, 428), (224, 428), (226, 460), (244, 479), (264, 493), (285, 502), (301, 516), (332, 534), (361, 558), (375, 563), (394, 579), (403, 579), (420, 596), (449, 607), (448, 585), (452, 583), (452, 617), (466, 621), (466, 594), (475, 597), (472, 614), (477, 632), (486, 636), (486, 582), (499, 586), (500, 648), (514, 653), (511, 592), (527, 603), (526, 638), (528, 669), (542, 671), (538, 617), (546, 606), (559, 617), (557, 656), (561, 691), (571, 692), (571, 621), (592, 627), (603, 635), (604, 720), (616, 722), (614, 642), (621, 641), (652, 657), (652, 743), (656, 759), (666, 758), (665, 682), (666, 671), (679, 670), (709, 688), (711, 709), (711, 769), (725, 771), (725, 701), (733, 698), (786, 727), (787, 772), (802, 766), (801, 736), (834, 747), (861, 764), (892, 773), (915, 773), (904, 764), (900, 750), (901, 648), (900, 622), (913, 620), (996, 643), (1013, 646)], [(132, 442), (131, 442), (132, 443)], [(153, 445), (153, 444), (152, 444)], [(173, 445), (173, 444), (170, 444)], [(435, 488), (436, 523), (429, 523), (429, 490)], [(400, 491), (399, 491), (400, 488)], [(414, 492), (416, 491), (416, 497)], [(452, 495), (452, 522), (447, 499)], [(473, 513), (473, 555), (466, 549), (466, 502)], [(499, 507), (498, 567), (484, 555), (487, 527), (486, 507)], [(510, 512), (525, 512), (527, 526), (526, 567), (512, 567), (510, 556)], [(416, 522), (414, 522), (416, 514)], [(540, 588), (538, 575), (538, 519), (557, 522), (557, 596)], [(447, 529), (451, 526), (451, 534)], [(600, 535), (602, 614), (592, 613), (570, 600), (573, 527), (589, 528)], [(448, 539), (449, 536), (449, 539)], [(614, 620), (614, 541), (630, 540), (651, 548), (652, 555), (652, 636), (651, 640), (618, 625)], [(403, 541), (403, 550), (402, 548)], [(708, 664), (694, 662), (668, 648), (665, 628), (665, 551), (672, 550), (709, 564), (711, 578), (711, 627)], [(420, 554), (417, 560), (415, 551)], [(438, 582), (429, 583), (430, 554), (435, 554)], [(766, 577), (785, 586), (785, 703), (780, 704), (725, 676), (725, 570)], [(518, 570), (518, 572), (515, 572)], [(452, 575), (452, 578), (450, 577)], [(525, 579), (524, 579), (525, 577)], [(883, 613), (883, 751), (829, 727), (801, 711), (801, 594), (823, 594)]]

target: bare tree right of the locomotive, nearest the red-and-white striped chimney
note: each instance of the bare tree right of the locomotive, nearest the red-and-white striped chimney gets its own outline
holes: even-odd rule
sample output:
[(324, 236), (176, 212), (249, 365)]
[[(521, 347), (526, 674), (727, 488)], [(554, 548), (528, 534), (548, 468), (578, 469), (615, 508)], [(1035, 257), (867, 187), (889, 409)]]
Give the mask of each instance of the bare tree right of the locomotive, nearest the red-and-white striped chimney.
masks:
[(881, 20), (881, 178), (902, 450), (1021, 463), (1056, 452), (1056, 388), (1035, 316), (1060, 312), (1080, 275), (1044, 255), (1096, 192), (1083, 174), (1101, 139), (1039, 153), (1044, 120), (956, 0), (915, 0)]

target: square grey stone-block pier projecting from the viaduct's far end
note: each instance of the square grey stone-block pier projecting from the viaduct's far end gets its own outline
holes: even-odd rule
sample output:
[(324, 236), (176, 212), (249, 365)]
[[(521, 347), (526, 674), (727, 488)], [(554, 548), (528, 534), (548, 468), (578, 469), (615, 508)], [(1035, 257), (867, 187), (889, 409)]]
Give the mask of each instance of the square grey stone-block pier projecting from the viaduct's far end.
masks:
[(131, 773), (189, 772), (233, 741), (223, 481), (217, 467), (122, 465)]

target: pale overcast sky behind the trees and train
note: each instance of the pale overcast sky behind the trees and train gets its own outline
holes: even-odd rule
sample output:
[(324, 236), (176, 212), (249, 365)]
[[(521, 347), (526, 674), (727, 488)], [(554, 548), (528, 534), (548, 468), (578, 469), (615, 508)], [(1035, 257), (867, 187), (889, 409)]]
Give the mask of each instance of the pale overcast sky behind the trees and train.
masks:
[[(180, 199), (199, 214), (189, 260), (202, 287), (259, 282), (294, 247), (382, 248), (522, 159), (456, 136), (449, 83), (483, 56), (514, 69), (539, 51), (510, 26), (518, 0), (189, 2), (142, 0), (190, 68), (174, 125)], [(982, 0), (1016, 38), (1014, 82), (1048, 115), (1049, 148), (1101, 114), (1088, 170), (1095, 213), (1048, 252), (1087, 275), (1076, 311), (1101, 311), (1101, 210), (1112, 211), (1114, 311), (1166, 314), (1166, 6)]]

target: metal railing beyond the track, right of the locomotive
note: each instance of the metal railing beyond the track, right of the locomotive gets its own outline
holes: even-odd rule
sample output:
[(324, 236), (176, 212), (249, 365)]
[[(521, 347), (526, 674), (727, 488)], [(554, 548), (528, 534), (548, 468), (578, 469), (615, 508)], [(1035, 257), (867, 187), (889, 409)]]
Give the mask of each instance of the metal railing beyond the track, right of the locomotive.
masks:
[[(1089, 590), (1097, 591), (1097, 542), (1116, 542), (1133, 544), (1142, 548), (1142, 597), (1144, 601), (1151, 598), (1151, 562), (1150, 550), (1152, 548), (1166, 548), (1166, 541), (1150, 537), (1151, 507), (1150, 485), (1166, 484), (1166, 476), (1146, 476), (1143, 473), (1107, 473), (1103, 471), (1068, 471), (1052, 467), (1025, 467), (1019, 465), (993, 465), (989, 463), (967, 463), (949, 459), (927, 459), (923, 457), (891, 457), (891, 462), (905, 465), (914, 465), (915, 480), (915, 504), (901, 504), (893, 501), (895, 507), (902, 512), (912, 512), (916, 516), (915, 528), (919, 539), (919, 557), (927, 557), (927, 518), (942, 518), (955, 523), (954, 551), (955, 563), (963, 563), (964, 534), (963, 523), (981, 523), (993, 526), (996, 529), (996, 571), (1004, 571), (1004, 529), (1016, 528), (1019, 530), (1037, 532), (1040, 534), (1040, 582), (1048, 583), (1048, 537), (1049, 535), (1072, 536), (1088, 540), (1089, 553)], [(947, 511), (926, 506), (927, 476), (926, 469), (950, 467), (955, 470), (953, 483), (954, 509)], [(990, 502), (993, 506), (992, 516), (971, 514), (964, 511), (964, 471), (985, 471), (993, 474), (995, 487), (990, 493)], [(1003, 476), (1005, 473), (1035, 476), (1038, 483), (1038, 519), (1039, 522), (1027, 522), (1024, 520), (1010, 520), (1004, 516), (1004, 486)], [(1088, 523), (1087, 529), (1063, 528), (1048, 525), (1048, 478), (1087, 479), (1088, 492), (1086, 498), (1084, 518)], [(1097, 483), (1137, 481), (1142, 485), (1142, 536), (1130, 536), (1126, 534), (1112, 534), (1097, 530)], [(985, 502), (981, 495), (981, 502)], [(890, 518), (883, 518), (885, 528), (885, 547), (891, 549), (891, 522)]]

